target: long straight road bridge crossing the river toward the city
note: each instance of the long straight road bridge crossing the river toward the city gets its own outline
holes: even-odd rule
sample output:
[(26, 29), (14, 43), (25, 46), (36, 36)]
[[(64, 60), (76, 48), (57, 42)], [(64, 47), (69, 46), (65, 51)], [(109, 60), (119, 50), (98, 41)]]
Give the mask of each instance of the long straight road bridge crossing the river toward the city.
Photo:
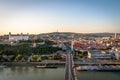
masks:
[(66, 54), (65, 80), (77, 80), (72, 50), (68, 47)]

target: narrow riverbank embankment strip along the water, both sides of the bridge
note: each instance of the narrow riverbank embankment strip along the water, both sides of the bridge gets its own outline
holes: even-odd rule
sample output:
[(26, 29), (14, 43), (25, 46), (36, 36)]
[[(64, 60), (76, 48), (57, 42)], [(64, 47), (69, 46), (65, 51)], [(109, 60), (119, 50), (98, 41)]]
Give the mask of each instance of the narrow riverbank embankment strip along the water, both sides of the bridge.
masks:
[[(42, 62), (0, 62), (0, 65), (10, 65), (10, 66), (36, 66), (36, 65), (58, 65), (65, 66), (65, 61), (59, 60), (44, 60)], [(99, 66), (99, 65), (120, 65), (120, 63), (85, 63), (85, 62), (75, 62), (75, 66)]]

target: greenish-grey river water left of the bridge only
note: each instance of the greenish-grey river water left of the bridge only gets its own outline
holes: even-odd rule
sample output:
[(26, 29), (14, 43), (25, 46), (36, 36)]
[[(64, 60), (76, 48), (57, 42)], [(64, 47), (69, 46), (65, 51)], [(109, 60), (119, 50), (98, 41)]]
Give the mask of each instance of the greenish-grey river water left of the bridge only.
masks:
[(0, 69), (0, 80), (64, 80), (64, 68), (9, 67)]

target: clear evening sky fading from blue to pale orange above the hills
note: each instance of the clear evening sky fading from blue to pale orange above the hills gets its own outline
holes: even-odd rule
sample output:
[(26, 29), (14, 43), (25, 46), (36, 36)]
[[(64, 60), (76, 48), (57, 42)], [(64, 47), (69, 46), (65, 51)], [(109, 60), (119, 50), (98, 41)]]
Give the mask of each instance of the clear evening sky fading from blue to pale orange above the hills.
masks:
[(0, 35), (120, 32), (120, 0), (0, 0)]

